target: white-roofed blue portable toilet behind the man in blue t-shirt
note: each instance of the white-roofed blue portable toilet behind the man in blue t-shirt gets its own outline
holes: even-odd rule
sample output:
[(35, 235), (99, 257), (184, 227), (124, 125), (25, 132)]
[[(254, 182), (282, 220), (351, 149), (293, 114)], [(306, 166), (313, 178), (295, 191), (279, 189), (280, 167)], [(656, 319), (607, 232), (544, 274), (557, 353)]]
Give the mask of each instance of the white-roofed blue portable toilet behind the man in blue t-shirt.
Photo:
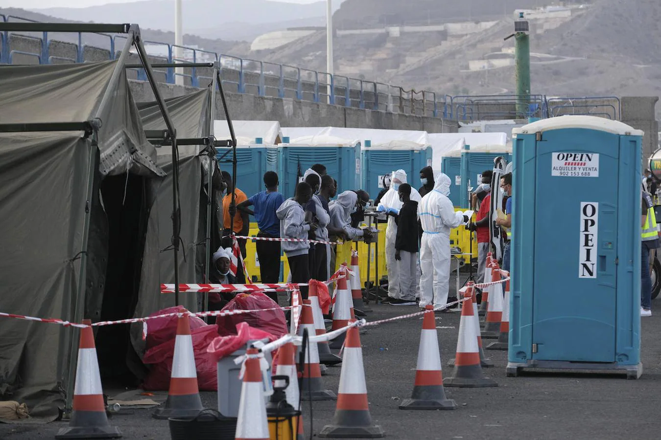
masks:
[[(247, 197), (264, 191), (262, 177), (267, 171), (276, 171), (278, 165), (277, 144), (281, 142), (278, 121), (233, 121), (237, 139), (237, 188)], [(214, 121), (216, 139), (229, 139), (227, 121)], [(229, 151), (229, 152), (228, 152)], [(232, 152), (229, 148), (217, 148), (216, 158), (221, 170), (231, 174)]]

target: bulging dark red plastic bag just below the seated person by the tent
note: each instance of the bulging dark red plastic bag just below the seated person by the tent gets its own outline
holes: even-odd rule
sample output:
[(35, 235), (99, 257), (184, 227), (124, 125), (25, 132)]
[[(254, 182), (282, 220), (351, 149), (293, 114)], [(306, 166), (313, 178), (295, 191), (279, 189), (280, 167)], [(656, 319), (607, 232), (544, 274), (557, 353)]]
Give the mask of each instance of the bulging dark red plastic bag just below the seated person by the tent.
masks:
[[(260, 310), (274, 307), (278, 307), (276, 301), (261, 292), (253, 292), (252, 294), (237, 294), (234, 299), (223, 307), (223, 311)], [(244, 322), (248, 323), (253, 329), (264, 330), (276, 336), (276, 338), (280, 338), (288, 332), (285, 313), (282, 309), (219, 316), (215, 321), (218, 326), (218, 334), (221, 336), (237, 334), (237, 325)]]

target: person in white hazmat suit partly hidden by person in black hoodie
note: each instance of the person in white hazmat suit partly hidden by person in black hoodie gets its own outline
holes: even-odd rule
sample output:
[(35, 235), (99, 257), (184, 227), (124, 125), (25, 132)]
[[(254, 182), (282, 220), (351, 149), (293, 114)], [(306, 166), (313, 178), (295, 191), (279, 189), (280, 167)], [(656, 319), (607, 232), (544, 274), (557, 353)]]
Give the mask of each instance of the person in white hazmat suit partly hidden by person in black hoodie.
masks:
[[(390, 189), (385, 193), (377, 206), (377, 211), (389, 212), (397, 214), (402, 207), (402, 202), (399, 200), (399, 185), (407, 182), (407, 173), (404, 170), (393, 171), (391, 174)], [(420, 193), (415, 188), (411, 188), (410, 199), (420, 203)], [(395, 239), (397, 239), (397, 223), (393, 216), (388, 216), (388, 226), (385, 228), (385, 265), (388, 269), (388, 297), (384, 302), (390, 299), (401, 299), (401, 292), (399, 288), (399, 269), (397, 260), (395, 260)], [(449, 249), (449, 247), (448, 247)], [(415, 274), (418, 278), (418, 274)], [(416, 283), (418, 284), (418, 283)]]

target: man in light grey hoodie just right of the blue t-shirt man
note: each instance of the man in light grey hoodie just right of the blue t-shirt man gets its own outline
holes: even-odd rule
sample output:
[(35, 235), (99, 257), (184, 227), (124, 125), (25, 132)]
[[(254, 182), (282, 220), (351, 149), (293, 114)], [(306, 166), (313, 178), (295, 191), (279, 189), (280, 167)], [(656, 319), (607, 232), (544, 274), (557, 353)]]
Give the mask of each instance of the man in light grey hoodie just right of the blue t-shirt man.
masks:
[[(293, 199), (287, 199), (276, 210), (280, 220), (280, 237), (307, 239), (308, 231), (317, 230), (317, 224), (305, 222), (303, 206), (312, 197), (312, 187), (305, 182), (296, 185), (296, 194)], [(309, 243), (305, 241), (283, 241), (282, 250), (287, 255), (293, 283), (307, 283), (310, 280), (308, 266)], [(301, 287), (301, 296), (307, 299), (307, 287)]]

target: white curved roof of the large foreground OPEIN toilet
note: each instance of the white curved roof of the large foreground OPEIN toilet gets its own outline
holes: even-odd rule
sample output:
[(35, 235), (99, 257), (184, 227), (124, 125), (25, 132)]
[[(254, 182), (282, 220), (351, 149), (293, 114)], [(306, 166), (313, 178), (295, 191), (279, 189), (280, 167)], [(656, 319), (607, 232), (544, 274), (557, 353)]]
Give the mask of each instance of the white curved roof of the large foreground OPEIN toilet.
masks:
[(565, 115), (540, 119), (512, 130), (512, 134), (537, 133), (559, 129), (590, 129), (613, 133), (613, 135), (643, 135), (642, 130), (637, 130), (623, 122), (588, 115)]

